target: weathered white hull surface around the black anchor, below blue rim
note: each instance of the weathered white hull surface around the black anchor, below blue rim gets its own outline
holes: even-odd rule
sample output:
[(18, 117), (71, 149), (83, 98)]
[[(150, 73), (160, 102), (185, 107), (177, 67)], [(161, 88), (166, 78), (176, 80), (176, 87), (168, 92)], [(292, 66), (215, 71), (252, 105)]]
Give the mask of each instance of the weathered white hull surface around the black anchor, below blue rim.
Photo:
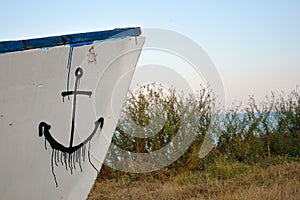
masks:
[[(91, 98), (78, 96), (74, 143), (80, 143), (94, 128), (98, 117), (104, 127), (91, 142), (92, 162), (101, 168), (124, 103), (144, 38), (94, 42), (74, 47), (70, 71), (73, 90), (75, 70), (84, 74), (81, 90)], [(38, 124), (51, 124), (51, 134), (65, 146), (70, 139), (72, 98), (62, 101), (66, 90), (70, 46), (57, 46), (0, 54), (0, 199), (85, 199), (97, 176), (86, 160), (83, 172), (73, 175), (54, 165), (51, 148), (38, 136)]]

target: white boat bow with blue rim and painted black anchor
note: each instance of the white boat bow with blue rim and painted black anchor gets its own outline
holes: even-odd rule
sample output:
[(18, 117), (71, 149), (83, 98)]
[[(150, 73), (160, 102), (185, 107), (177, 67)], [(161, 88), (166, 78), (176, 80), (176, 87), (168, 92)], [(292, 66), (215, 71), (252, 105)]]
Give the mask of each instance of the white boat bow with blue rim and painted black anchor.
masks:
[(140, 28), (0, 42), (0, 199), (86, 199), (144, 36)]

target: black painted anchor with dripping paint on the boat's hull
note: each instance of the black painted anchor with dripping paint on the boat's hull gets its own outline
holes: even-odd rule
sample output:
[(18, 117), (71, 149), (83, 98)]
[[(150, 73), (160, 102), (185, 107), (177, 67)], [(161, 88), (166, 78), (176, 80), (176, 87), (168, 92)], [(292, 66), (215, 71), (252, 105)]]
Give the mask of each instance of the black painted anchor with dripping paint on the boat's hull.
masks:
[[(71, 133), (70, 133), (70, 144), (68, 147), (59, 143), (50, 133), (51, 125), (47, 124), (46, 122), (40, 122), (38, 126), (39, 136), (45, 137), (45, 148), (47, 149), (47, 142), (50, 144), (52, 148), (52, 155), (51, 155), (51, 167), (52, 167), (52, 174), (54, 177), (54, 181), (56, 187), (58, 187), (57, 179), (54, 173), (54, 164), (58, 166), (59, 163), (61, 165), (65, 165), (66, 170), (70, 169), (71, 174), (73, 173), (73, 169), (76, 169), (76, 163), (78, 163), (80, 170), (82, 171), (81, 161), (85, 161), (86, 158), (86, 150), (87, 150), (87, 157), (89, 163), (93, 166), (93, 168), (98, 172), (97, 168), (93, 165), (90, 159), (90, 141), (96, 134), (98, 130), (101, 130), (104, 124), (104, 118), (100, 117), (95, 121), (95, 127), (92, 130), (91, 134), (80, 144), (74, 145), (74, 131), (75, 131), (75, 117), (76, 117), (76, 101), (78, 95), (85, 95), (91, 97), (92, 91), (80, 91), (79, 83), (80, 79), (83, 76), (82, 68), (78, 67), (75, 71), (75, 84), (73, 91), (63, 91), (61, 93), (63, 100), (66, 96), (73, 95), (73, 111), (72, 111), (72, 119), (71, 119)], [(88, 147), (87, 147), (88, 145)]]

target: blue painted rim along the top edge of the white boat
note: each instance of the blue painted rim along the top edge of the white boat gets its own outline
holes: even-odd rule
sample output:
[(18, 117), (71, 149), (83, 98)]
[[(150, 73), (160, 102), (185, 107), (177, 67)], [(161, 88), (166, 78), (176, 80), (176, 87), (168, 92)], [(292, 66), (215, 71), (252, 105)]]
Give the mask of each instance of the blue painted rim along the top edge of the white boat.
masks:
[(46, 48), (60, 45), (82, 46), (92, 44), (94, 41), (139, 36), (140, 34), (140, 28), (122, 28), (108, 31), (77, 33), (29, 40), (4, 41), (0, 42), (0, 53)]

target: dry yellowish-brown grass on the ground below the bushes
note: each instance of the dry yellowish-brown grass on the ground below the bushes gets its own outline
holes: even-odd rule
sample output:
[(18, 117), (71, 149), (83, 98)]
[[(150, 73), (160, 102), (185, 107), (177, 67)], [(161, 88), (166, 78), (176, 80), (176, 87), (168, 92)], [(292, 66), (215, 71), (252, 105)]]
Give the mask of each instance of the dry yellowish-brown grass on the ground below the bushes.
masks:
[[(225, 165), (223, 168), (227, 171), (221, 170), (221, 175), (236, 169), (235, 164), (230, 166)], [(118, 180), (98, 180), (88, 199), (296, 200), (300, 199), (300, 162), (286, 162), (265, 169), (252, 166), (225, 177), (206, 170), (183, 172), (168, 180), (149, 175), (138, 181), (130, 181), (126, 176)]]

